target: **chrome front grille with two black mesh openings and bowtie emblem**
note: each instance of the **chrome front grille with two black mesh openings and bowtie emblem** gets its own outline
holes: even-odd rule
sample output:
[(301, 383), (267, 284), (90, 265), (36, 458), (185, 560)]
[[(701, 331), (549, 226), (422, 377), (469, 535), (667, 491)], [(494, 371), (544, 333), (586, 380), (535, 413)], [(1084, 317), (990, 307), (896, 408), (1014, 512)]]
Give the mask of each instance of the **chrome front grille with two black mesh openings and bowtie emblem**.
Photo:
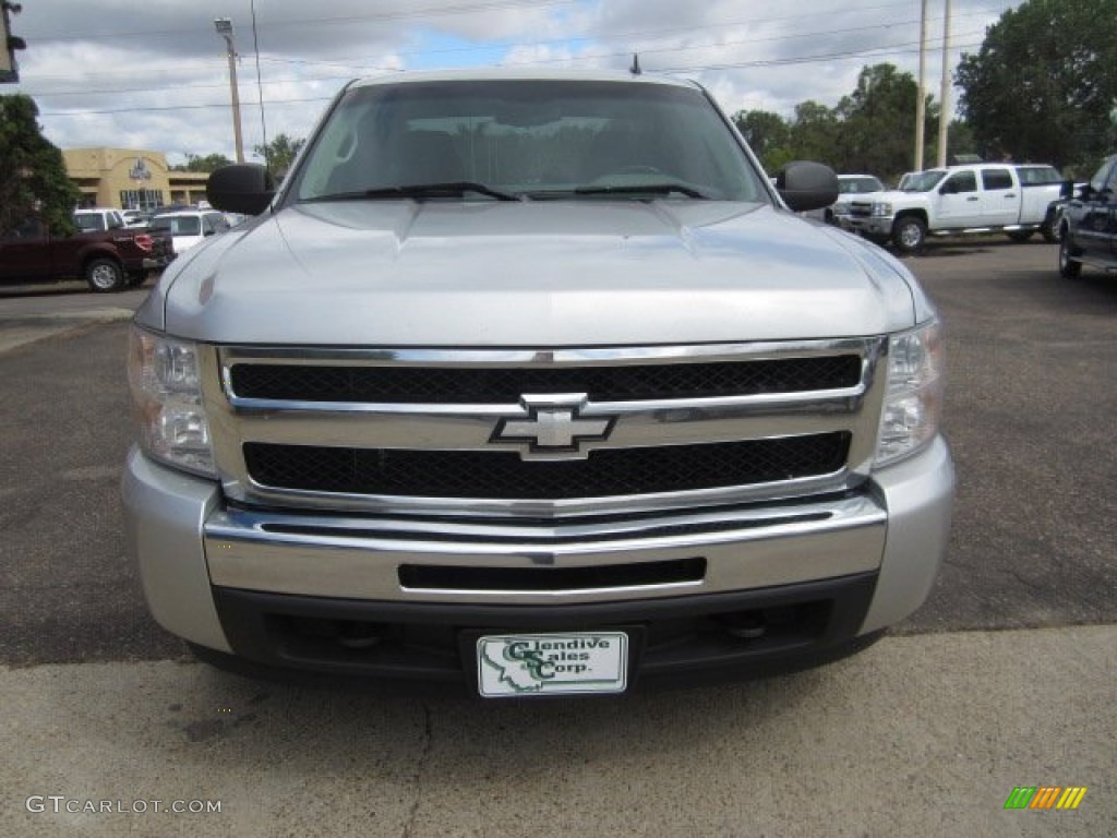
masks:
[(632, 513), (860, 483), (886, 346), (226, 346), (206, 400), (226, 494), (246, 506)]

